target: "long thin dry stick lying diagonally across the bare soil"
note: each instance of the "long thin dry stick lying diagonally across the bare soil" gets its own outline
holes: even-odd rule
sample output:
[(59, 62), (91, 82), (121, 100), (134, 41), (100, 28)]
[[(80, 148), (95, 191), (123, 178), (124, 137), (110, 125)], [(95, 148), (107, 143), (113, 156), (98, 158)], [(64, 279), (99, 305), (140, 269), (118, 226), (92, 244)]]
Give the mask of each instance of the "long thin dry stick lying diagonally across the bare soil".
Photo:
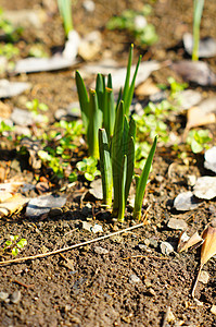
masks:
[(67, 247), (62, 247), (62, 249), (59, 249), (59, 250), (55, 250), (55, 251), (52, 251), (52, 252), (47, 252), (47, 253), (40, 253), (40, 254), (37, 254), (37, 255), (20, 257), (20, 258), (12, 259), (12, 261), (0, 262), (0, 265), (2, 266), (2, 265), (15, 264), (15, 263), (21, 263), (21, 262), (26, 262), (26, 261), (34, 261), (36, 258), (54, 255), (54, 254), (65, 252), (65, 251), (68, 251), (68, 250), (75, 249), (75, 247), (85, 246), (85, 245), (90, 244), (90, 243), (94, 243), (94, 242), (98, 242), (98, 241), (101, 241), (101, 240), (104, 240), (104, 239), (112, 238), (114, 235), (120, 234), (123, 232), (127, 232), (129, 230), (139, 228), (141, 226), (144, 226), (144, 222), (136, 225), (136, 226), (128, 227), (126, 229), (118, 230), (114, 233), (111, 233), (111, 234), (107, 234), (107, 235), (104, 235), (104, 237), (101, 237), (101, 238), (97, 238), (97, 239), (89, 240), (89, 241), (86, 241), (86, 242), (82, 242), (82, 243), (74, 244), (74, 245), (71, 245), (71, 246), (67, 246)]

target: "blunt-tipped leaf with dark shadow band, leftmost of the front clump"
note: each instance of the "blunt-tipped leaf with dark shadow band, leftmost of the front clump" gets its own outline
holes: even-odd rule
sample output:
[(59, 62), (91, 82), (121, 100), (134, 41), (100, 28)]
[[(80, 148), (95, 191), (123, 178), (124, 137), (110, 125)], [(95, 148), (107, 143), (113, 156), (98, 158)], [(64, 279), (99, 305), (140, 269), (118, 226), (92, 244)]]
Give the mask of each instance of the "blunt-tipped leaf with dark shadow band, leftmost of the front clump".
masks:
[(103, 203), (111, 207), (113, 192), (113, 174), (107, 136), (104, 129), (99, 130), (100, 169), (102, 178)]

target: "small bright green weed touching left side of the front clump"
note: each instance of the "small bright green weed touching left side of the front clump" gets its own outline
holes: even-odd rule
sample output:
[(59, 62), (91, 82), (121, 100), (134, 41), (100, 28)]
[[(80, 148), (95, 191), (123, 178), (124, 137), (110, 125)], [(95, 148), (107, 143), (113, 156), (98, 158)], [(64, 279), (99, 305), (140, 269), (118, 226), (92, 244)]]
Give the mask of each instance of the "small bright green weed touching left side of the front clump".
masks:
[(82, 161), (76, 164), (77, 169), (84, 173), (87, 181), (92, 182), (101, 172), (97, 168), (98, 160), (93, 157), (84, 158)]

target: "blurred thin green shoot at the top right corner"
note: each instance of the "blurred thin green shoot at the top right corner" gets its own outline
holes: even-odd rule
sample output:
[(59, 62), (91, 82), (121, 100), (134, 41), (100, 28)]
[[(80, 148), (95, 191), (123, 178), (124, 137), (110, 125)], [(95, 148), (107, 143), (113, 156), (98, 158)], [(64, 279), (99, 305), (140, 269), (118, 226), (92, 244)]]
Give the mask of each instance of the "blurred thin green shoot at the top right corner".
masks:
[(199, 59), (200, 24), (203, 14), (204, 0), (193, 0), (193, 50), (192, 60)]

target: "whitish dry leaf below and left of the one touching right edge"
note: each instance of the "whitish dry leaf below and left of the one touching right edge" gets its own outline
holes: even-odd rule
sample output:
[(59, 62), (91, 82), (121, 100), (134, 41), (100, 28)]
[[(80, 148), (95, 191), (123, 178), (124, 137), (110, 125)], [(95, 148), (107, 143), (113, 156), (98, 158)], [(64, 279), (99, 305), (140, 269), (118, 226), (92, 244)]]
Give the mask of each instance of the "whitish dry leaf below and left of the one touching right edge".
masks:
[(200, 201), (190, 191), (178, 194), (174, 201), (174, 207), (179, 211), (193, 210), (199, 205)]

